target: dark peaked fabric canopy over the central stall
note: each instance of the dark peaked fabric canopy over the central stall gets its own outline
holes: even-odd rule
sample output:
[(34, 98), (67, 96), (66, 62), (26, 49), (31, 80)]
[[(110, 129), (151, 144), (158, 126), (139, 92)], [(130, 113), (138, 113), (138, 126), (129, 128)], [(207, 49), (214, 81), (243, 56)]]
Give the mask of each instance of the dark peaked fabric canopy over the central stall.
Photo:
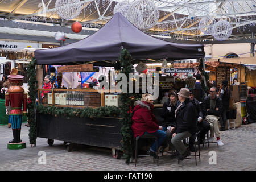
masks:
[[(122, 48), (133, 59), (193, 59), (204, 57), (203, 44), (167, 42), (145, 34), (116, 13), (108, 23), (93, 35), (67, 46), (36, 50), (37, 64), (77, 64), (94, 60), (119, 60)], [(76, 62), (76, 63), (74, 63)]]

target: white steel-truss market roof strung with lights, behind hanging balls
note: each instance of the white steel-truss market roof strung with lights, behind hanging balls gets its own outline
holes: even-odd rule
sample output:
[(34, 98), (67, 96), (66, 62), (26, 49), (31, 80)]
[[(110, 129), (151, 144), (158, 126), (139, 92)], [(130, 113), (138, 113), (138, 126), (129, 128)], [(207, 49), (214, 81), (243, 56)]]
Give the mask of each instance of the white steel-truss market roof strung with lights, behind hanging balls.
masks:
[[(81, 11), (76, 18), (62, 20), (57, 14), (56, 0), (0, 0), (0, 17), (9, 21), (45, 22), (69, 27), (76, 20), (87, 28), (100, 28), (113, 16), (114, 7), (122, 1), (79, 0)], [(148, 0), (154, 2), (158, 22), (149, 33), (179, 40), (215, 40), (213, 34), (200, 30), (203, 18), (216, 22), (227, 20), (232, 31), (229, 40), (252, 39), (256, 32), (256, 0)], [(43, 3), (42, 3), (43, 2)], [(26, 27), (24, 24), (22, 27)], [(254, 39), (254, 38), (253, 38)]]

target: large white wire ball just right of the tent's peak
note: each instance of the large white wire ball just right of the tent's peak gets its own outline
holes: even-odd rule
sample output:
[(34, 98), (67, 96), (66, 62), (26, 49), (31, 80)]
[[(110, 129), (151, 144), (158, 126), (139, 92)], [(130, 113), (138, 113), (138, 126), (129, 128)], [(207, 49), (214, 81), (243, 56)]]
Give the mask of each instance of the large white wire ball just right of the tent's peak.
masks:
[(153, 27), (159, 18), (159, 11), (151, 0), (134, 1), (128, 14), (130, 22), (142, 31), (147, 31)]

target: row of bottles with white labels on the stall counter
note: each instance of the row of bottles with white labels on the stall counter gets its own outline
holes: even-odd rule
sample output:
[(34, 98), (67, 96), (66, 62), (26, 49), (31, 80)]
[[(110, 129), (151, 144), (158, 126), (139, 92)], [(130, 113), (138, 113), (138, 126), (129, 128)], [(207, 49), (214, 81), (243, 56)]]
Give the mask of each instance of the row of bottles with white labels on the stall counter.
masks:
[(83, 92), (67, 92), (67, 105), (84, 105), (84, 93)]

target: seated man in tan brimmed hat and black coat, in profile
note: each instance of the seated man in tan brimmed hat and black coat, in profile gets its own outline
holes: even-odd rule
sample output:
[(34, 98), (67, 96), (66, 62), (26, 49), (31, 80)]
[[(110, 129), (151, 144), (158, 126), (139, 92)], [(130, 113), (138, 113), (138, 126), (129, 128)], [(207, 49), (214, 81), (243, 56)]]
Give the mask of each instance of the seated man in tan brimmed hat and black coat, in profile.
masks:
[(196, 107), (189, 99), (189, 89), (182, 88), (177, 93), (179, 103), (175, 111), (176, 125), (174, 126), (174, 134), (172, 134), (172, 144), (179, 152), (177, 158), (185, 159), (190, 155), (189, 149), (183, 144), (182, 140), (191, 137), (196, 133)]

